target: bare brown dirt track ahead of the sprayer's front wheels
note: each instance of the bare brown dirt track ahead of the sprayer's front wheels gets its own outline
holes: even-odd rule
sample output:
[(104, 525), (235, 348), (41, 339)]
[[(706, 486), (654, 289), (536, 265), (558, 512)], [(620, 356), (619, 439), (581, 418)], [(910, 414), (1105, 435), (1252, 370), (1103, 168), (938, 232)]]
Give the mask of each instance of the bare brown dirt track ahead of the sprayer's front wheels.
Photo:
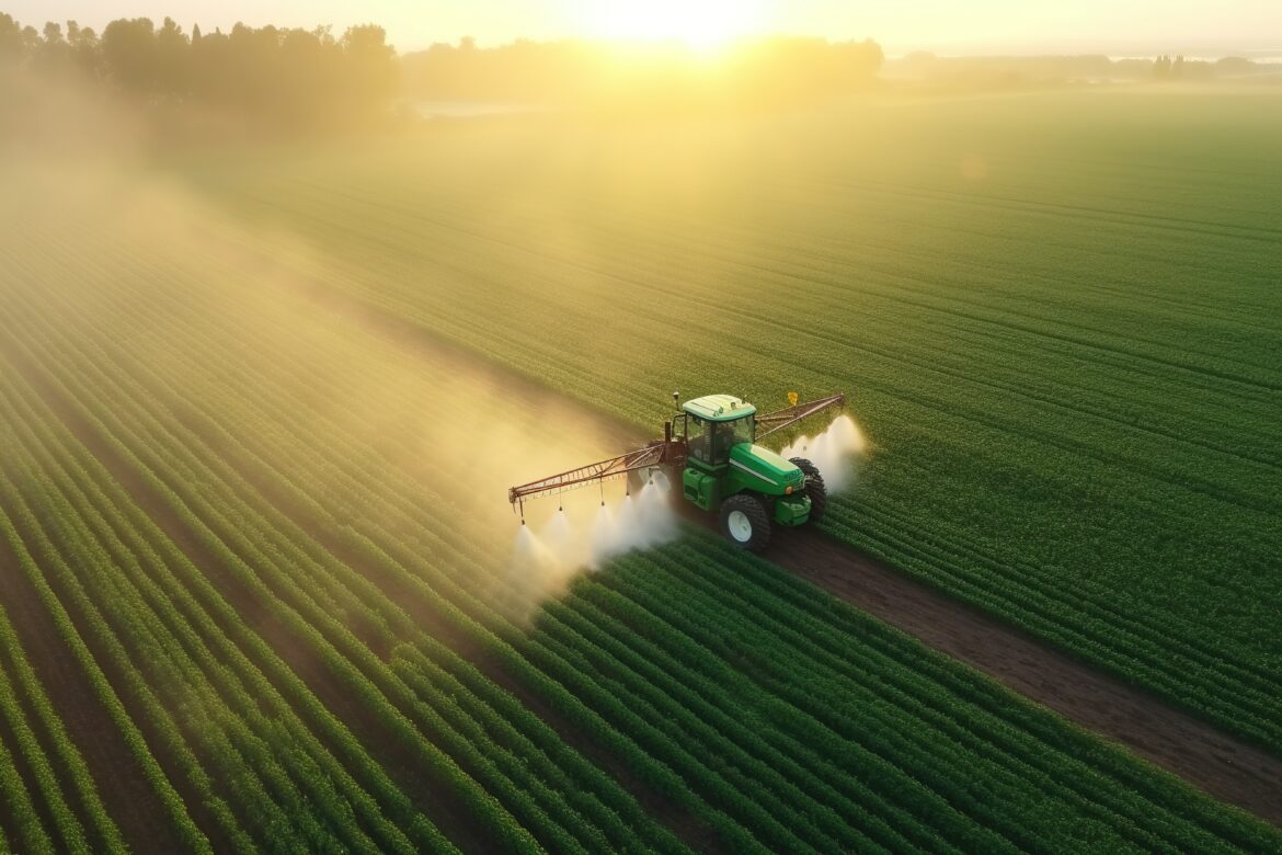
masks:
[[(782, 538), (781, 538), (782, 540)], [(1206, 792), (1282, 826), (1282, 759), (815, 531), (767, 558)]]

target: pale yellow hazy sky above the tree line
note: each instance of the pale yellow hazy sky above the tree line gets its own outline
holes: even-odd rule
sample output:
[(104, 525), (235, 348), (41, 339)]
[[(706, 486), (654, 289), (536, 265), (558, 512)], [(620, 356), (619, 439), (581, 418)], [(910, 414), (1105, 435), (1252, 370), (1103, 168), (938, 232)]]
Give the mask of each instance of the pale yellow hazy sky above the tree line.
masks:
[(23, 23), (165, 15), (185, 29), (276, 23), (336, 31), (379, 23), (401, 51), (474, 36), (674, 36), (714, 45), (733, 35), (872, 37), (890, 54), (949, 51), (1282, 51), (1282, 0), (0, 0)]

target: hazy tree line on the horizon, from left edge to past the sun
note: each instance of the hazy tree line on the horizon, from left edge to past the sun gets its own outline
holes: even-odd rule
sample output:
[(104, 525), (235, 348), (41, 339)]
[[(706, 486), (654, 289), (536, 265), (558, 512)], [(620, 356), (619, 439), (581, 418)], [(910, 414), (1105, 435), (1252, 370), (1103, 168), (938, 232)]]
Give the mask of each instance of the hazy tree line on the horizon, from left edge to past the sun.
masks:
[[(172, 18), (23, 26), (0, 13), (0, 74), (105, 86), (165, 108), (274, 126), (350, 127), (399, 101), (508, 100), (635, 108), (797, 101), (869, 86), (883, 62), (870, 41), (765, 37), (715, 59), (678, 42), (632, 45), (519, 40), (397, 56), (382, 27), (249, 27), (186, 32)], [(3, 83), (3, 79), (0, 79)], [(186, 113), (185, 113), (186, 114)], [(203, 114), (204, 115), (204, 114)]]

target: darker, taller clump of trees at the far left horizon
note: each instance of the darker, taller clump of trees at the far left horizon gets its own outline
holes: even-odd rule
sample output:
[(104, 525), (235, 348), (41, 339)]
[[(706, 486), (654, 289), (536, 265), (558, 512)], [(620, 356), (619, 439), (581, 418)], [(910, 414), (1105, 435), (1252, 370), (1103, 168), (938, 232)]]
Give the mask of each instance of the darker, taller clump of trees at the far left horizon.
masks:
[(382, 27), (183, 31), (172, 18), (68, 21), (41, 31), (0, 13), (0, 71), (90, 82), (153, 104), (190, 105), (290, 126), (349, 124), (386, 113), (400, 91)]

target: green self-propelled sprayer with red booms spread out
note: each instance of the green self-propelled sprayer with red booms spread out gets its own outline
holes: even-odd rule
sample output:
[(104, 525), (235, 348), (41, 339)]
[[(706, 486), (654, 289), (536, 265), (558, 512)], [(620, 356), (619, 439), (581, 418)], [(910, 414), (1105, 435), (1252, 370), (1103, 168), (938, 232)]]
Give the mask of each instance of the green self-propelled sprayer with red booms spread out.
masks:
[[(681, 395), (673, 394), (673, 401)], [(742, 549), (760, 551), (773, 526), (801, 526), (823, 517), (827, 492), (818, 467), (804, 458), (785, 460), (758, 442), (801, 419), (846, 403), (833, 395), (759, 415), (756, 408), (732, 395), (705, 395), (686, 401), (663, 426), (663, 438), (644, 449), (562, 472), (508, 490), (524, 522), (527, 499), (627, 478), (628, 491), (640, 490), (663, 473), (683, 500), (720, 517), (720, 529)]]

